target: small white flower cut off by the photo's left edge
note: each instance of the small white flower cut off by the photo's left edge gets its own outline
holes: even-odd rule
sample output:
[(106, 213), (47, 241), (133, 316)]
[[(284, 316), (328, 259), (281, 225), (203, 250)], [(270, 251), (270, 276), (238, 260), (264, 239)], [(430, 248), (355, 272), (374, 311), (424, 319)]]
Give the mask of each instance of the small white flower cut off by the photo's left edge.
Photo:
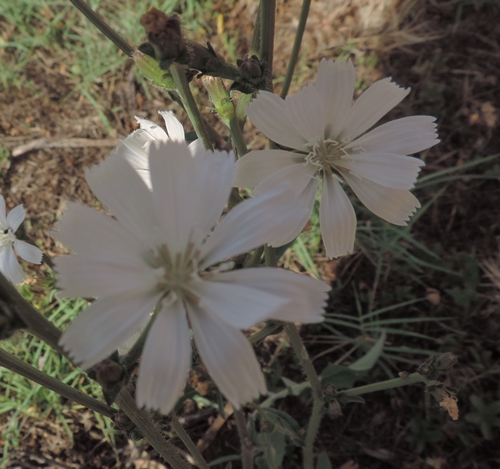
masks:
[(0, 272), (12, 283), (24, 281), (26, 274), (17, 262), (14, 248), (19, 257), (33, 264), (42, 262), (42, 251), (32, 244), (16, 238), (15, 232), (24, 221), (26, 213), (22, 205), (14, 207), (8, 215), (5, 210), (5, 200), (0, 195)]

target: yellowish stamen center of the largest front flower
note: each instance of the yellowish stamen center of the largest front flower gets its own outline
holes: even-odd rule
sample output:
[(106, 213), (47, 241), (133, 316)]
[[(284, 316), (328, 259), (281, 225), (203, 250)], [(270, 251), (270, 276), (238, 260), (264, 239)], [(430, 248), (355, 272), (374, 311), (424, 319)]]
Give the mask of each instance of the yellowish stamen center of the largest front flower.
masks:
[(189, 244), (184, 253), (175, 256), (170, 254), (166, 245), (161, 245), (154, 260), (154, 267), (158, 269), (158, 288), (165, 292), (164, 298), (170, 303), (185, 299), (198, 302), (192, 293), (190, 284), (199, 279), (198, 259), (200, 252)]

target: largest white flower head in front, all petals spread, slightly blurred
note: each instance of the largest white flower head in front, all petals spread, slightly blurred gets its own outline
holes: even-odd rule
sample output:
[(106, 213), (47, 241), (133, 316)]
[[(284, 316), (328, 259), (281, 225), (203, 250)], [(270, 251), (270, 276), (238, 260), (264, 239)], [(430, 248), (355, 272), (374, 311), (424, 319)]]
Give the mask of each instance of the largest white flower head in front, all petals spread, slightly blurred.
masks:
[(116, 218), (70, 204), (54, 233), (76, 253), (56, 259), (61, 293), (98, 298), (69, 326), (61, 345), (83, 368), (91, 367), (155, 310), (138, 404), (164, 413), (175, 405), (190, 366), (191, 328), (208, 372), (238, 407), (266, 392), (240, 329), (270, 318), (321, 321), (329, 287), (282, 269), (228, 271), (223, 262), (275, 236), (272, 221), (289, 215), (280, 210), (286, 190), (240, 203), (213, 228), (231, 191), (234, 155), (192, 155), (186, 144), (168, 141), (152, 144), (149, 160), (152, 190), (120, 149), (88, 171), (90, 188)]

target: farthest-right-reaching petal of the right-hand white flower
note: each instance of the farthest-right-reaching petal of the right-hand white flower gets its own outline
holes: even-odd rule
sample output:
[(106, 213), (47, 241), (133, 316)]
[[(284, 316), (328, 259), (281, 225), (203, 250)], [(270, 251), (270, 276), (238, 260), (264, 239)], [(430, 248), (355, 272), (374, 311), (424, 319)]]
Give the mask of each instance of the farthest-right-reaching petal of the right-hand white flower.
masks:
[(387, 122), (345, 146), (367, 153), (412, 155), (439, 143), (435, 117), (411, 116)]

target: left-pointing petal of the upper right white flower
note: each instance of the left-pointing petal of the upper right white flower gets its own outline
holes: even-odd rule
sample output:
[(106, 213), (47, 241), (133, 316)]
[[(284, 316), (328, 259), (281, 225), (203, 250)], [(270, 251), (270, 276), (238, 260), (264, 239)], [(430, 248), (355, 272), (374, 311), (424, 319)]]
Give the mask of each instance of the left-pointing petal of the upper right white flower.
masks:
[(254, 188), (276, 171), (304, 161), (304, 155), (290, 151), (252, 151), (236, 162), (233, 185)]

